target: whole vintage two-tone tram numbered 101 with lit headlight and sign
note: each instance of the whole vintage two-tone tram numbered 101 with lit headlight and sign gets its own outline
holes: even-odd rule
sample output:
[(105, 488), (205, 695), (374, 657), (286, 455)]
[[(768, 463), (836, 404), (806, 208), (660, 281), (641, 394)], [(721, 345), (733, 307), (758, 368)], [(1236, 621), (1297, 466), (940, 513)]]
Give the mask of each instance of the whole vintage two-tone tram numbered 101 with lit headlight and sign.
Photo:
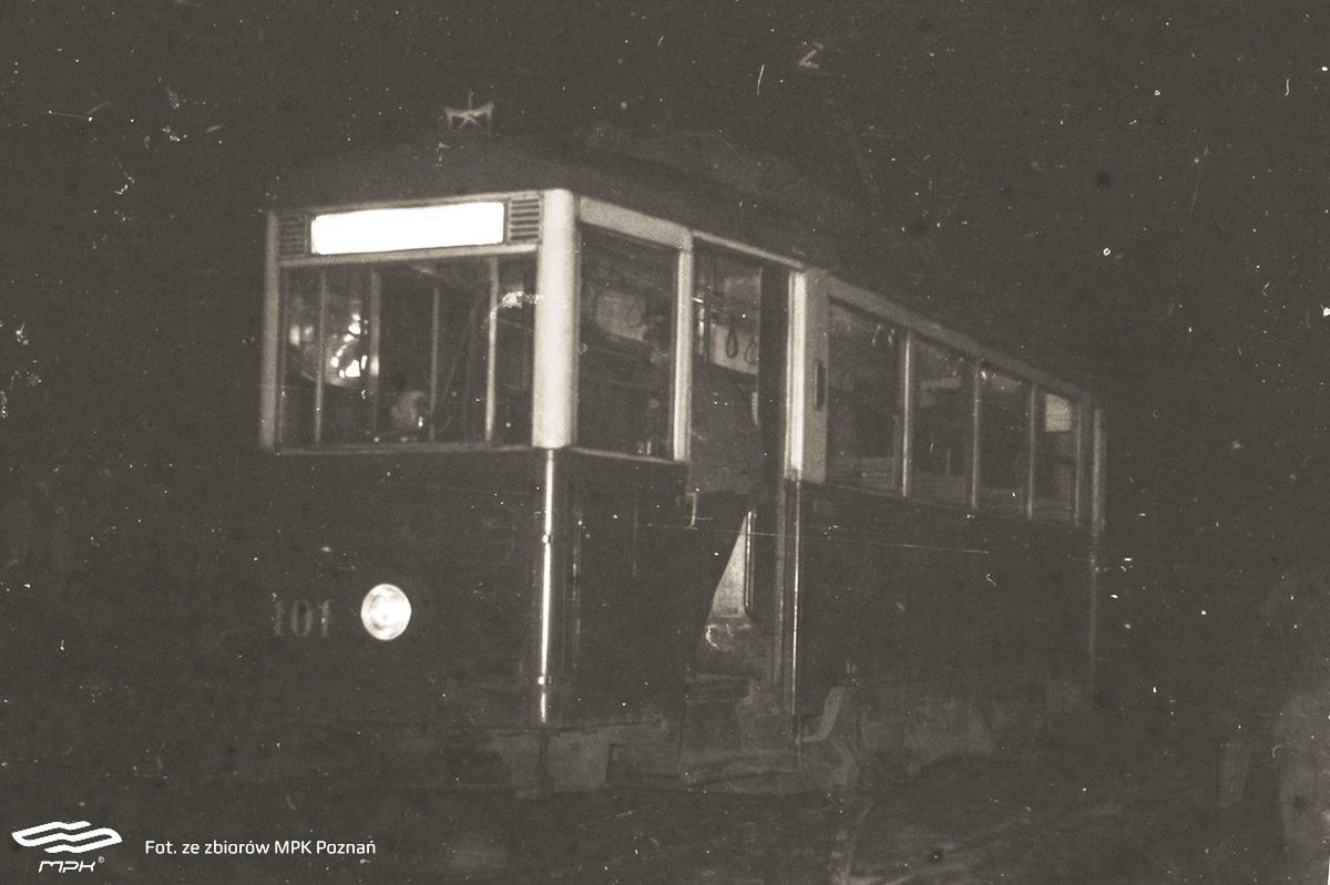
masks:
[(1084, 700), (1096, 401), (759, 185), (497, 137), (283, 179), (253, 764), (846, 784)]

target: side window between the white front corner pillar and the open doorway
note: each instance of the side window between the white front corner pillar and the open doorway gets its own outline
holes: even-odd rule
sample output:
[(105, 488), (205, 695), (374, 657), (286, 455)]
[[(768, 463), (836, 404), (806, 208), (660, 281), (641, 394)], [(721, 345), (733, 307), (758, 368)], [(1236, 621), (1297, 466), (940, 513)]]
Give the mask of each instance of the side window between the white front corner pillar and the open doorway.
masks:
[(583, 235), (577, 444), (670, 457), (677, 256)]

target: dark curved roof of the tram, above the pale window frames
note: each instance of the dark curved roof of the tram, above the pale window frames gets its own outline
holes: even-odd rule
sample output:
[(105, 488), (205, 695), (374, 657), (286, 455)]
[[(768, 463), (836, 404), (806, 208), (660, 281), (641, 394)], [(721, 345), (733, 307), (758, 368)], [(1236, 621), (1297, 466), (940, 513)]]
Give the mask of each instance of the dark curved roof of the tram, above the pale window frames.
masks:
[[(1023, 357), (1032, 342), (1032, 330), (1013, 322), (1003, 300), (960, 262), (912, 246), (875, 225), (862, 203), (787, 163), (739, 150), (717, 133), (641, 138), (597, 129), (589, 137), (559, 140), (454, 132), (431, 142), (348, 150), (294, 169), (281, 179), (277, 207), (555, 187), (829, 270), (1011, 356)], [(968, 322), (954, 323), (948, 315)], [(1049, 360), (1052, 348), (1040, 349), (1033, 361), (1077, 381), (1080, 371), (1064, 359)]]

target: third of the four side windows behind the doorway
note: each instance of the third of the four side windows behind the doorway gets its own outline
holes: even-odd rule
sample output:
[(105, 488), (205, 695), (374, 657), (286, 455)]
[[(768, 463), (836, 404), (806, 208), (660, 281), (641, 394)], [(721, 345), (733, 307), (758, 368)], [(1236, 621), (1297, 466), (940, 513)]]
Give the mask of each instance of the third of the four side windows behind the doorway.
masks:
[(1025, 512), (1029, 470), (1029, 384), (983, 368), (979, 412), (979, 506)]

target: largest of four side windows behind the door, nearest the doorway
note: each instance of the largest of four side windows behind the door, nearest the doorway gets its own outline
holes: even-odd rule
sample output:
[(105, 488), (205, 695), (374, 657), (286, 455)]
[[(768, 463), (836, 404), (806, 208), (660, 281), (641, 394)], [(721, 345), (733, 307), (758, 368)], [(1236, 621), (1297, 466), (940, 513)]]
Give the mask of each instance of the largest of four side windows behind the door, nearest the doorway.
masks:
[(827, 480), (899, 492), (904, 336), (837, 302), (830, 320)]

